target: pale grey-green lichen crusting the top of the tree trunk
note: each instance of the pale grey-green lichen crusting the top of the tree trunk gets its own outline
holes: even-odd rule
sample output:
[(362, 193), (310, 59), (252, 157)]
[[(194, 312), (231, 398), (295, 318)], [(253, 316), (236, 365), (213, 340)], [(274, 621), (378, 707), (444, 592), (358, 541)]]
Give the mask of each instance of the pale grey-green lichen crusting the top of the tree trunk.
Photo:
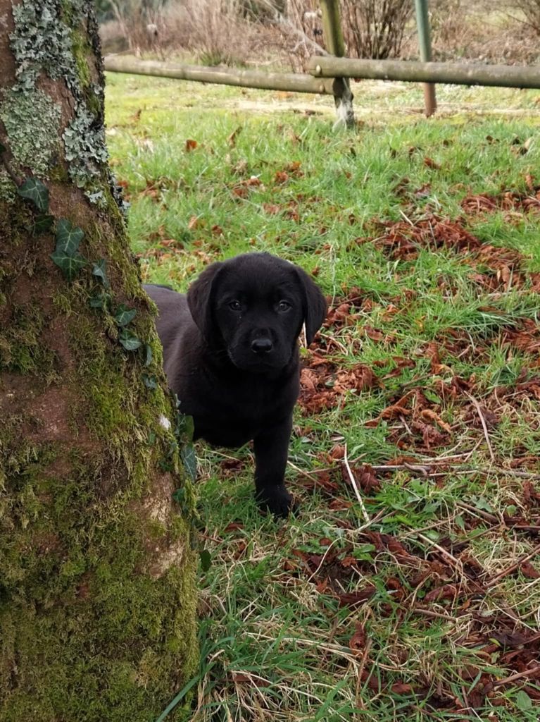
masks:
[[(62, 136), (68, 174), (92, 203), (105, 207), (103, 183), (111, 187), (116, 201), (120, 202), (120, 199), (105, 165), (107, 148), (103, 130), (101, 61), (94, 64), (93, 74), (89, 71), (88, 61), (97, 43), (86, 40), (91, 31), (97, 34), (90, 4), (88, 0), (63, 3), (60, 0), (21, 0), (14, 4), (10, 45), (17, 70), (11, 93), (14, 98), (38, 93), (37, 84), (43, 74), (53, 81), (65, 82), (74, 105)], [(83, 27), (84, 31), (81, 30)], [(24, 105), (25, 101), (19, 103)], [(36, 137), (43, 135), (41, 123), (40, 114), (34, 113), (25, 115), (25, 122), (18, 125), (19, 143), (11, 144), (16, 170), (26, 168), (43, 175), (43, 168), (35, 157), (18, 152), (19, 145), (31, 146)], [(10, 136), (9, 129), (6, 130)]]

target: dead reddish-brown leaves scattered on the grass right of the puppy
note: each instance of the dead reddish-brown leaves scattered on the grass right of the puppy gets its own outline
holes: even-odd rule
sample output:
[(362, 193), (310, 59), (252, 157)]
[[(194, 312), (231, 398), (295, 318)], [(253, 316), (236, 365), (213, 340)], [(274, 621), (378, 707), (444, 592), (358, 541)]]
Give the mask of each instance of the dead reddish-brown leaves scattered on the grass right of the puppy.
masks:
[[(426, 165), (435, 168), (430, 163)], [(502, 196), (467, 196), (462, 208), (466, 214), (495, 209), (536, 212), (540, 209), (540, 191), (538, 187), (533, 191), (526, 196), (510, 192)], [(521, 253), (482, 243), (468, 230), (464, 218), (449, 219), (430, 213), (412, 223), (385, 222), (379, 228), (382, 233), (373, 239), (373, 243), (395, 260), (415, 261), (422, 248), (433, 251), (446, 248), (459, 254), (464, 264), (471, 268), (470, 282), (484, 295), (540, 291), (539, 274), (525, 270)], [(411, 295), (414, 296), (414, 292)], [(397, 298), (387, 303), (391, 313), (386, 313), (386, 321), (399, 313), (403, 300)], [(417, 386), (413, 381), (407, 389), (389, 388), (389, 382), (399, 378), (404, 369), (415, 369), (414, 359), (394, 357), (395, 368), (386, 375), (378, 373), (374, 364), (345, 367), (342, 339), (348, 331), (354, 331), (357, 338), (363, 332), (378, 344), (392, 342), (394, 334), (364, 323), (366, 308), (371, 310), (373, 303), (368, 293), (358, 287), (332, 300), (324, 329), (304, 357), (299, 403), (305, 415), (317, 415), (345, 403), (350, 393), (369, 391), (386, 399), (379, 414), (365, 424), (367, 427), (385, 425), (387, 440), (408, 456), (390, 460), (388, 472), (384, 471), (384, 464), (377, 470), (368, 464), (351, 465), (353, 477), (369, 508), (375, 501), (373, 494), (381, 491), (384, 478), (396, 468), (405, 471), (421, 468), (424, 477), (433, 478), (438, 485), (444, 484), (446, 474), (459, 473), (461, 464), (445, 463), (442, 457), (439, 461), (441, 449), (465, 436), (469, 445), (478, 448), (485, 440), (485, 434), (497, 430), (509, 408), (523, 414), (524, 401), (540, 401), (540, 375), (530, 373), (539, 366), (540, 325), (536, 318), (521, 318), (510, 325), (501, 323), (479, 339), (461, 329), (448, 329), (435, 341), (425, 344), (423, 349), (433, 378), (432, 393), (428, 393), (423, 381)], [(498, 313), (496, 309), (495, 313)], [(496, 386), (486, 393), (485, 389), (477, 388), (474, 373), (469, 378), (461, 378), (453, 372), (456, 358), (469, 355), (478, 359), (493, 348), (508, 349), (510, 355), (522, 352), (530, 357), (528, 369), (522, 370), (515, 383)], [(474, 399), (476, 393), (482, 396), (481, 403)], [(534, 423), (537, 424), (536, 419)], [(526, 534), (534, 540), (540, 536), (540, 474), (531, 474), (530, 479), (524, 477), (530, 467), (538, 469), (538, 458), (526, 454), (524, 449), (520, 458), (520, 450), (516, 451), (518, 454), (514, 458), (496, 458), (495, 464), (498, 473), (508, 473), (510, 477), (516, 469), (523, 469), (520, 507), (516, 509), (517, 513), (503, 513), (500, 517), (487, 514), (491, 522), (483, 534), (509, 534), (514, 530), (514, 534)], [(347, 488), (350, 483), (340, 445), (320, 461), (327, 466), (304, 474), (298, 484), (319, 492), (333, 512), (345, 512), (349, 516), (353, 503), (350, 502)], [(489, 468), (475, 469), (472, 464), (464, 464), (463, 468), (472, 473), (471, 478), (490, 473)], [(492, 473), (497, 473), (497, 468)], [(461, 698), (441, 681), (434, 687), (433, 680), (428, 679), (424, 684), (422, 679), (418, 679), (417, 684), (410, 684), (395, 682), (395, 677), (385, 682), (385, 674), (381, 671), (373, 676), (368, 632), (356, 622), (348, 645), (355, 655), (365, 655), (361, 679), (371, 690), (381, 692), (387, 686), (394, 695), (425, 700), (428, 709), (456, 714), (481, 710), (488, 700), (492, 707), (506, 705), (504, 691), (512, 684), (522, 685), (526, 699), (540, 700), (540, 687), (536, 686), (540, 679), (540, 633), (531, 628), (526, 619), (520, 619), (515, 611), (505, 611), (504, 603), (500, 612), (488, 614), (485, 611), (494, 589), (502, 601), (503, 589), (508, 590), (505, 583), (515, 579), (516, 575), (533, 583), (539, 579), (539, 557), (536, 555), (533, 559), (508, 565), (497, 575), (491, 565), (482, 564), (474, 555), (474, 544), (469, 541), (470, 534), (486, 527), (485, 518), (479, 516), (482, 504), (479, 500), (477, 508), (474, 505), (465, 508), (464, 516), (459, 516), (459, 524), (467, 533), (464, 541), (457, 541), (460, 536), (456, 533), (459, 532), (457, 528), (438, 539), (432, 547), (429, 537), (423, 537), (428, 544), (419, 544), (418, 539), (414, 539), (414, 531), (412, 543), (394, 534), (366, 529), (355, 533), (354, 543), (340, 541), (340, 544), (332, 545), (330, 539), (324, 539), (329, 546), (319, 553), (293, 549), (284, 562), (286, 573), (293, 578), (307, 578), (322, 596), (335, 599), (339, 608), (356, 610), (386, 594), (391, 596), (391, 604), (379, 604), (379, 614), (393, 618), (398, 608), (402, 620), (398, 623), (415, 617), (422, 618), (428, 626), (430, 619), (453, 619), (458, 625), (463, 622), (465, 632), (458, 643), (464, 650), (474, 652), (479, 662), (456, 667), (456, 677), (461, 675), (462, 683), (469, 688)], [(352, 534), (354, 525), (346, 521), (347, 517), (342, 518), (342, 528)], [(418, 536), (422, 538), (422, 535)], [(363, 549), (360, 554), (359, 542)], [(399, 568), (398, 576), (390, 571), (384, 574), (387, 565), (379, 563), (381, 557), (394, 561)], [(485, 664), (488, 661), (489, 664)]]

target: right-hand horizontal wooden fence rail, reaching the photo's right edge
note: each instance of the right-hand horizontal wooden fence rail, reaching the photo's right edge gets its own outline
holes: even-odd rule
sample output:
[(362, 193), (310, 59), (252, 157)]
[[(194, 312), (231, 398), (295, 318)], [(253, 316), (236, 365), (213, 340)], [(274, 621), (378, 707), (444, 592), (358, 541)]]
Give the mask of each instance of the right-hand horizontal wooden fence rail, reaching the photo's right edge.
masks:
[(540, 88), (540, 66), (420, 63), (311, 56), (308, 71), (314, 77), (326, 78), (368, 78), (415, 83)]

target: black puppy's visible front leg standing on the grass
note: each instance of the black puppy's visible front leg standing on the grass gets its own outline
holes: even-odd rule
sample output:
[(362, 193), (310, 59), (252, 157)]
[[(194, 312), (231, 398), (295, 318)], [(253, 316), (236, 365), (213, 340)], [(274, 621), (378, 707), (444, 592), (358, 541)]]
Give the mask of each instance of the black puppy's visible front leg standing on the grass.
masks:
[(285, 467), (293, 419), (287, 417), (253, 440), (255, 452), (255, 498), (262, 509), (274, 516), (287, 516), (293, 497), (285, 488)]

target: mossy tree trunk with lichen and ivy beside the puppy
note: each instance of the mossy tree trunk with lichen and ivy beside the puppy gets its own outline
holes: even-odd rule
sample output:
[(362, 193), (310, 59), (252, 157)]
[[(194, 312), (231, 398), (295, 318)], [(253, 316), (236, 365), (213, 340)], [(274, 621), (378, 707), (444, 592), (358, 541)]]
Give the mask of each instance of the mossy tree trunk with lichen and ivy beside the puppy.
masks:
[(0, 719), (154, 722), (197, 665), (193, 502), (92, 2), (0, 0), (0, 69)]

